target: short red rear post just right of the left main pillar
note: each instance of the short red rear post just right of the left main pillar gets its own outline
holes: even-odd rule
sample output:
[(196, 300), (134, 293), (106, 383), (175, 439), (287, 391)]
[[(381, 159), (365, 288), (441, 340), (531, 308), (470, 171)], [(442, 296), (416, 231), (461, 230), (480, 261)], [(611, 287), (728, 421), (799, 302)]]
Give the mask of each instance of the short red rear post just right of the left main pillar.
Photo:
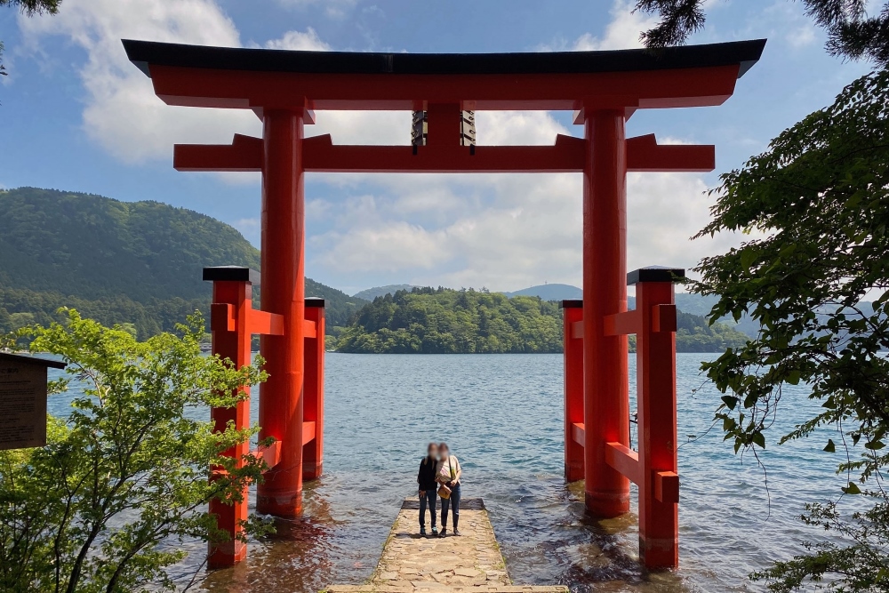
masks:
[(302, 477), (313, 480), (324, 469), (324, 299), (306, 299), (306, 319), (315, 337), (306, 339), (306, 403), (303, 420), (312, 422), (315, 438), (302, 447)]

